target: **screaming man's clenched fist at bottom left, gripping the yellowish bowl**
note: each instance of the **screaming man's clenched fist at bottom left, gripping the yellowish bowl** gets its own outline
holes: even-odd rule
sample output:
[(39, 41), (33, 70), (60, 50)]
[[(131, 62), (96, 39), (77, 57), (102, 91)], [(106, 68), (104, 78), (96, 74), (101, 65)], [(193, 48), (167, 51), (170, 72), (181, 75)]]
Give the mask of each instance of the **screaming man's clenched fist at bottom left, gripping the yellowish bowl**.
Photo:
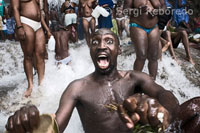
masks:
[(27, 133), (38, 127), (39, 111), (35, 106), (25, 106), (8, 118), (8, 133)]

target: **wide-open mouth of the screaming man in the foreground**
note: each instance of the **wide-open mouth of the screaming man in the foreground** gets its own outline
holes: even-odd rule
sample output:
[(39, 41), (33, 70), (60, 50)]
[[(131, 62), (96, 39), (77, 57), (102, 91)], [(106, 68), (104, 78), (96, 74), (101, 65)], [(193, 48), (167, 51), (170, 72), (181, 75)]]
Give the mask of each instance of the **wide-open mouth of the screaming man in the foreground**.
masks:
[(109, 67), (110, 60), (107, 55), (101, 54), (97, 58), (97, 64), (101, 69), (107, 69)]

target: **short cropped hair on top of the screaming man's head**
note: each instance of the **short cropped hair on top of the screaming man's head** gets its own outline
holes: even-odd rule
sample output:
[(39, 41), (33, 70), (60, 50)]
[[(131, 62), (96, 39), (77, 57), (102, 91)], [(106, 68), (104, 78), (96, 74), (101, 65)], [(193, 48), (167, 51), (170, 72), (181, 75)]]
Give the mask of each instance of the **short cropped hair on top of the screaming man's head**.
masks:
[(112, 36), (114, 36), (116, 42), (117, 42), (117, 45), (119, 46), (120, 45), (120, 41), (119, 41), (119, 37), (114, 33), (112, 32), (110, 29), (107, 29), (107, 28), (101, 28), (99, 30), (97, 30), (93, 35), (92, 35), (92, 38), (96, 35), (105, 35), (105, 34), (110, 34)]

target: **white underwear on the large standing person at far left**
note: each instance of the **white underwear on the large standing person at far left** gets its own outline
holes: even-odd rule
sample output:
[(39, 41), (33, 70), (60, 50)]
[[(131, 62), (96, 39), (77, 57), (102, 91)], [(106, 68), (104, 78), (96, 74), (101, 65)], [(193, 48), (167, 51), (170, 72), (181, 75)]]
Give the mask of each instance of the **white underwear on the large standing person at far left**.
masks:
[(27, 17), (23, 17), (23, 16), (20, 16), (20, 20), (21, 20), (21, 23), (23, 24), (27, 24), (28, 26), (30, 26), (34, 31), (37, 31), (38, 29), (41, 28), (41, 22), (37, 22), (37, 21), (34, 21), (32, 19), (29, 19)]

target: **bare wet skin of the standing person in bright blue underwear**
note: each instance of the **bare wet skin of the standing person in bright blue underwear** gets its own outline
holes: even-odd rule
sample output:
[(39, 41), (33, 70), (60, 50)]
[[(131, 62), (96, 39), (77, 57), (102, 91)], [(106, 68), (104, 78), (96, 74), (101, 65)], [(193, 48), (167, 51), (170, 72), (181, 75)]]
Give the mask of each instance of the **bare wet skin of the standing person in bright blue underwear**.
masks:
[[(125, 0), (124, 9), (136, 9), (139, 14), (130, 15), (130, 23), (136, 23), (144, 28), (153, 28), (158, 18), (152, 15), (154, 9), (165, 9), (164, 0)], [(148, 10), (148, 12), (147, 12)], [(136, 16), (134, 16), (136, 15)], [(145, 60), (148, 59), (149, 75), (156, 78), (158, 69), (158, 53), (160, 33), (157, 26), (147, 34), (143, 29), (138, 27), (130, 27), (130, 35), (136, 50), (136, 60), (134, 62), (134, 70), (142, 71)]]

